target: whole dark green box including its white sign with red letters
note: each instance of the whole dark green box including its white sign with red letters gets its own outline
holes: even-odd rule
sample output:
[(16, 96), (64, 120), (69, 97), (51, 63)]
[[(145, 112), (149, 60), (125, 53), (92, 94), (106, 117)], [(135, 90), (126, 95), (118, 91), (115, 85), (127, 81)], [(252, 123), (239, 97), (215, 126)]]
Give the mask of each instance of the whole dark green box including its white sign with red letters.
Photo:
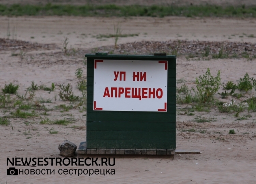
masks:
[(176, 149), (176, 56), (87, 58), (87, 149)]

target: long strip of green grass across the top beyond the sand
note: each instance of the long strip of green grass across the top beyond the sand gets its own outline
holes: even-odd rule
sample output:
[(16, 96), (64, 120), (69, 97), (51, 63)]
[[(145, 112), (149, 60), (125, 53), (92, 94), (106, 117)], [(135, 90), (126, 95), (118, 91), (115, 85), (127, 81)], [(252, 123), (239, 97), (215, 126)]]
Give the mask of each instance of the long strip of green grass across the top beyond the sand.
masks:
[[(185, 16), (185, 17), (256, 17), (256, 7), (249, 6), (227, 6), (221, 7), (216, 5), (205, 6), (142, 6), (129, 5), (117, 6), (114, 4), (106, 5), (3, 5), (0, 4), (0, 15), (6, 16), (24, 16), (24, 15), (67, 15), (67, 16)], [(251, 36), (251, 35), (250, 35)], [(252, 35), (254, 37), (254, 35)]]

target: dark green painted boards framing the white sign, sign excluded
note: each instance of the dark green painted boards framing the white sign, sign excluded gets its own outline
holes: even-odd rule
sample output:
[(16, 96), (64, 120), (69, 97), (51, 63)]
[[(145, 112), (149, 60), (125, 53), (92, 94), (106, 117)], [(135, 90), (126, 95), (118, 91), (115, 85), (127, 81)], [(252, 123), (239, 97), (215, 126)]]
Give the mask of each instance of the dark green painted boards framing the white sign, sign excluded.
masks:
[[(107, 55), (87, 57), (87, 147), (176, 149), (176, 57)], [(93, 111), (94, 59), (168, 61), (168, 112)]]

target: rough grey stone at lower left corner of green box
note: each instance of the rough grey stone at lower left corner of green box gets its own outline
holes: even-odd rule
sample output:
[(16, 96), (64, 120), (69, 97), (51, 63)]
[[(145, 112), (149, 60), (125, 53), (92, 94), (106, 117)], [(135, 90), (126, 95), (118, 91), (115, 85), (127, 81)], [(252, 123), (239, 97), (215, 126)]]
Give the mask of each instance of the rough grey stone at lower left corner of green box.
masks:
[(59, 145), (60, 156), (72, 157), (75, 155), (77, 150), (77, 145), (71, 143), (68, 140), (65, 140), (61, 145)]

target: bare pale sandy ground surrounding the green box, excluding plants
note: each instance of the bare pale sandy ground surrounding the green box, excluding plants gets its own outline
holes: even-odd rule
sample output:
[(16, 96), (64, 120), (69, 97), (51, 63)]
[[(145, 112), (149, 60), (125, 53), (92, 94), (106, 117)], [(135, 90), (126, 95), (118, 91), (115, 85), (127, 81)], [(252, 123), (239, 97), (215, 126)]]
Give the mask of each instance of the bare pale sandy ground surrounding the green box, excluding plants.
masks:
[[(25, 0), (23, 2), (26, 2)], [(35, 0), (36, 2), (36, 0)], [(77, 1), (78, 2), (78, 1)], [(120, 1), (121, 2), (121, 1)], [(166, 2), (166, 1), (164, 1)], [(184, 1), (185, 2), (185, 1)], [(207, 1), (204, 1), (207, 2)], [(210, 2), (210, 1), (209, 1)], [(217, 1), (227, 2), (227, 1)], [(234, 1), (230, 1), (234, 2)], [(236, 1), (237, 2), (237, 1)], [(254, 1), (243, 1), (244, 3)], [(0, 48), (0, 88), (13, 82), (19, 84), (19, 95), (34, 81), (37, 85), (73, 85), (75, 95), (80, 95), (76, 84), (75, 71), (81, 68), (86, 75), (84, 54), (99, 46), (114, 45), (114, 38), (98, 38), (97, 35), (113, 34), (113, 24), (120, 22), (122, 33), (138, 36), (121, 37), (118, 44), (139, 41), (232, 41), (256, 43), (256, 19), (224, 18), (184, 18), (184, 17), (131, 17), (131, 18), (94, 18), (94, 17), (0, 17), (0, 38), (30, 41), (39, 44), (53, 44), (49, 47), (27, 46)], [(9, 22), (9, 28), (8, 28)], [(8, 36), (9, 33), (9, 36)], [(68, 38), (68, 48), (74, 48), (74, 56), (65, 56), (63, 43)], [(72, 50), (72, 49), (71, 49)], [(255, 52), (255, 51), (254, 51)], [(139, 54), (139, 53), (137, 53)], [(256, 76), (256, 60), (211, 59), (193, 60), (184, 56), (177, 58), (178, 87), (183, 83), (191, 88), (196, 77), (211, 69), (213, 75), (220, 70), (221, 82), (237, 81), (246, 72)], [(44, 113), (36, 110), (38, 116), (28, 119), (9, 118), (9, 126), (0, 126), (0, 183), (180, 183), (180, 184), (219, 184), (250, 183), (256, 181), (256, 113), (245, 120), (237, 120), (234, 113), (220, 113), (213, 108), (209, 112), (184, 114), (191, 105), (177, 105), (177, 149), (198, 149), (201, 154), (176, 154), (169, 158), (116, 158), (111, 168), (115, 175), (18, 175), (6, 176), (6, 157), (59, 157), (58, 145), (65, 139), (77, 146), (86, 138), (86, 111), (71, 109), (67, 112), (55, 108), (60, 104), (70, 105), (58, 97), (58, 87), (52, 92), (37, 90), (33, 103), (40, 103), (52, 109)], [(222, 87), (220, 92), (223, 91)], [(251, 94), (253, 95), (253, 94)], [(29, 95), (27, 94), (27, 97)], [(16, 98), (11, 95), (11, 98)], [(220, 99), (220, 95), (216, 98)], [(231, 102), (231, 98), (225, 99)], [(239, 104), (242, 99), (235, 99)], [(11, 115), (16, 108), (2, 108), (0, 117)], [(247, 111), (240, 116), (247, 115)], [(209, 123), (197, 123), (198, 117), (213, 119)], [(42, 119), (68, 119), (72, 123), (64, 125), (40, 124)], [(187, 132), (186, 129), (196, 129)], [(49, 134), (49, 130), (58, 134)], [(236, 134), (228, 134), (234, 129)], [(205, 133), (200, 133), (204, 131)], [(22, 169), (37, 167), (19, 166)], [(41, 166), (39, 169), (64, 169), (63, 166)], [(80, 169), (79, 166), (71, 167)], [(99, 169), (88, 166), (86, 169)], [(105, 166), (101, 169), (110, 169)], [(65, 168), (66, 169), (66, 168)]]

